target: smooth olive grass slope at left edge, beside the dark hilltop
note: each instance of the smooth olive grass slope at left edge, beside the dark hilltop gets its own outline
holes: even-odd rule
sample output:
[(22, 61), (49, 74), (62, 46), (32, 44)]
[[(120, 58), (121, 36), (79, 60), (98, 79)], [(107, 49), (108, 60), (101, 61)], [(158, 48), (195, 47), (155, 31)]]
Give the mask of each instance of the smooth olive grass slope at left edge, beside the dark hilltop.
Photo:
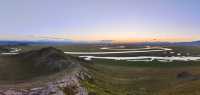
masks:
[(21, 61), (11, 57), (0, 58), (0, 82), (22, 82), (51, 73), (42, 72), (44, 70), (47, 70), (47, 68), (43, 66), (36, 68), (33, 63), (28, 61)]

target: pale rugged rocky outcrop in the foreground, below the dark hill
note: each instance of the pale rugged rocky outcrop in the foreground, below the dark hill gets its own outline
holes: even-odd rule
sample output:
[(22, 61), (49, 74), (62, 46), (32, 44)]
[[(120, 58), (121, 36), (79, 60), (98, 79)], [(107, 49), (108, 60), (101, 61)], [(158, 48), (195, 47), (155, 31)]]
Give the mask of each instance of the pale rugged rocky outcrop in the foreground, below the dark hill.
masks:
[(88, 95), (87, 90), (81, 86), (80, 81), (91, 76), (76, 71), (62, 79), (48, 82), (45, 86), (33, 88), (0, 88), (0, 95)]

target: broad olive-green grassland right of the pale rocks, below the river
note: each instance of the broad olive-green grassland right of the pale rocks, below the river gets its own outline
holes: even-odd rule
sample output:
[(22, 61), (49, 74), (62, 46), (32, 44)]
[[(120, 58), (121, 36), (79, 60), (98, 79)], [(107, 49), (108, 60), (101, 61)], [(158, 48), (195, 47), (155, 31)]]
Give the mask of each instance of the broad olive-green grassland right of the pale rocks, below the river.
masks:
[[(198, 87), (200, 81), (176, 79), (176, 75), (182, 71), (199, 76), (200, 64), (179, 64), (95, 60), (94, 64), (88, 67), (94, 79), (83, 81), (83, 84), (90, 92), (97, 95), (183, 95), (181, 91), (185, 93), (200, 91)], [(175, 87), (178, 87), (180, 92), (175, 90)]]

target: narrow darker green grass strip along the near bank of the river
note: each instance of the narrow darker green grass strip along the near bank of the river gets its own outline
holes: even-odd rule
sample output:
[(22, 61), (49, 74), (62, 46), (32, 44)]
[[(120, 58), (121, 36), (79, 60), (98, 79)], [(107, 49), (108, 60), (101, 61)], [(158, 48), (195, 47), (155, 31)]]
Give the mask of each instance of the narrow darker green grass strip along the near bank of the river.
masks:
[(148, 67), (148, 68), (177, 68), (177, 67), (189, 67), (189, 66), (200, 66), (198, 61), (174, 61), (174, 62), (160, 62), (160, 61), (125, 61), (125, 60), (92, 60), (95, 65), (106, 65), (106, 66), (127, 66), (127, 67)]

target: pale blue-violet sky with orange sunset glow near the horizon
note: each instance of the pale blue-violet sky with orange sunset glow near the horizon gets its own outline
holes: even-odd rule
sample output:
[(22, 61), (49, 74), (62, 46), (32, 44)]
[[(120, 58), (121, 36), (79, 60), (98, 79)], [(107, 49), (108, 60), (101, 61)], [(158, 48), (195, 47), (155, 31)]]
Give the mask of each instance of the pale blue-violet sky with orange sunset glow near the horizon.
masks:
[(0, 0), (0, 40), (200, 40), (200, 0)]

